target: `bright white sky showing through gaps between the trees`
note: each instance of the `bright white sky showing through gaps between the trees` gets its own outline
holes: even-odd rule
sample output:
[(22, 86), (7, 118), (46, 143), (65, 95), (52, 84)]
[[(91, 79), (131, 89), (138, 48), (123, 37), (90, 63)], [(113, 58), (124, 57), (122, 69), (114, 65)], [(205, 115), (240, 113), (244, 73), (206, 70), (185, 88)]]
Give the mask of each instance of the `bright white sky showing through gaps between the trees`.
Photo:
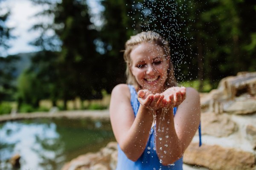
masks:
[[(87, 0), (91, 13), (96, 16), (93, 18), (93, 22), (96, 26), (102, 24), (99, 18), (97, 18), (97, 14), (104, 10), (104, 7), (99, 5), (99, 1), (100, 0)], [(4, 52), (3, 56), (39, 51), (40, 48), (29, 45), (29, 42), (39, 37), (40, 31), (29, 30), (34, 24), (38, 23), (38, 21), (52, 22), (52, 18), (34, 17), (35, 14), (43, 11), (47, 6), (35, 5), (30, 0), (5, 0), (0, 3), (0, 8), (3, 13), (7, 11), (8, 8), (10, 9), (11, 14), (6, 21), (6, 26), (14, 28), (11, 34), (16, 37), (9, 41), (11, 48)]]

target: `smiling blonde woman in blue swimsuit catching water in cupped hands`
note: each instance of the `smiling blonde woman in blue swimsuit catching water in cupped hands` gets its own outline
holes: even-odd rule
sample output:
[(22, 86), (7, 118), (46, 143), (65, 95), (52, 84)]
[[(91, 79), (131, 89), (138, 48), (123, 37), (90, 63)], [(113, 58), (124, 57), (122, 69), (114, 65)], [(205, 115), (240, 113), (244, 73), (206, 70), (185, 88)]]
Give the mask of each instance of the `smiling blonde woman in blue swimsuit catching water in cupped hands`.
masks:
[(155, 32), (132, 36), (124, 59), (127, 84), (113, 89), (110, 103), (116, 170), (182, 170), (200, 123), (198, 92), (176, 87), (169, 44)]

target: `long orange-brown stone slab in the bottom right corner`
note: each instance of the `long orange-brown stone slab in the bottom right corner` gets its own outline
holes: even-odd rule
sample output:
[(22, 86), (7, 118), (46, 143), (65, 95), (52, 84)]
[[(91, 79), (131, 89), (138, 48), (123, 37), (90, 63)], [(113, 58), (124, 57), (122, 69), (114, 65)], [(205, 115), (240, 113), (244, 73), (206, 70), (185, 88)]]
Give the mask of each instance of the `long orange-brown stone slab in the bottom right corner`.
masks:
[(191, 143), (183, 154), (186, 164), (200, 165), (212, 170), (254, 170), (253, 153), (218, 145)]

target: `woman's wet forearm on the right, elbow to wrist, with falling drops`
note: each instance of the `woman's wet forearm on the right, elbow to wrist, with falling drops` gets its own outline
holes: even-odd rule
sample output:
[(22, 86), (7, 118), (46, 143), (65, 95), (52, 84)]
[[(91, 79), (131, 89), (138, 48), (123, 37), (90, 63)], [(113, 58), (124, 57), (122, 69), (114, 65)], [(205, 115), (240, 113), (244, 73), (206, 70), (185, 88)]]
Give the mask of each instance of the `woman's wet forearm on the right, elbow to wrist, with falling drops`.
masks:
[(175, 124), (173, 109), (165, 111), (165, 119), (160, 115), (162, 109), (157, 110), (157, 138), (156, 149), (157, 156), (163, 162), (163, 165), (173, 164), (177, 159), (180, 159), (183, 154), (183, 145), (178, 139)]

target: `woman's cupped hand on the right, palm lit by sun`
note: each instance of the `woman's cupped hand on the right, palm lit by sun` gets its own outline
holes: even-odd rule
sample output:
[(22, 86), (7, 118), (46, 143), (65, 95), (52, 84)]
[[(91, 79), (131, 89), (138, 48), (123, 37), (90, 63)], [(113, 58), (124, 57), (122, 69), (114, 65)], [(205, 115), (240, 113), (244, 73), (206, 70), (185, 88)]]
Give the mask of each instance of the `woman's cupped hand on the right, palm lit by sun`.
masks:
[(185, 87), (172, 87), (162, 93), (164, 95), (164, 108), (175, 108), (186, 99)]

